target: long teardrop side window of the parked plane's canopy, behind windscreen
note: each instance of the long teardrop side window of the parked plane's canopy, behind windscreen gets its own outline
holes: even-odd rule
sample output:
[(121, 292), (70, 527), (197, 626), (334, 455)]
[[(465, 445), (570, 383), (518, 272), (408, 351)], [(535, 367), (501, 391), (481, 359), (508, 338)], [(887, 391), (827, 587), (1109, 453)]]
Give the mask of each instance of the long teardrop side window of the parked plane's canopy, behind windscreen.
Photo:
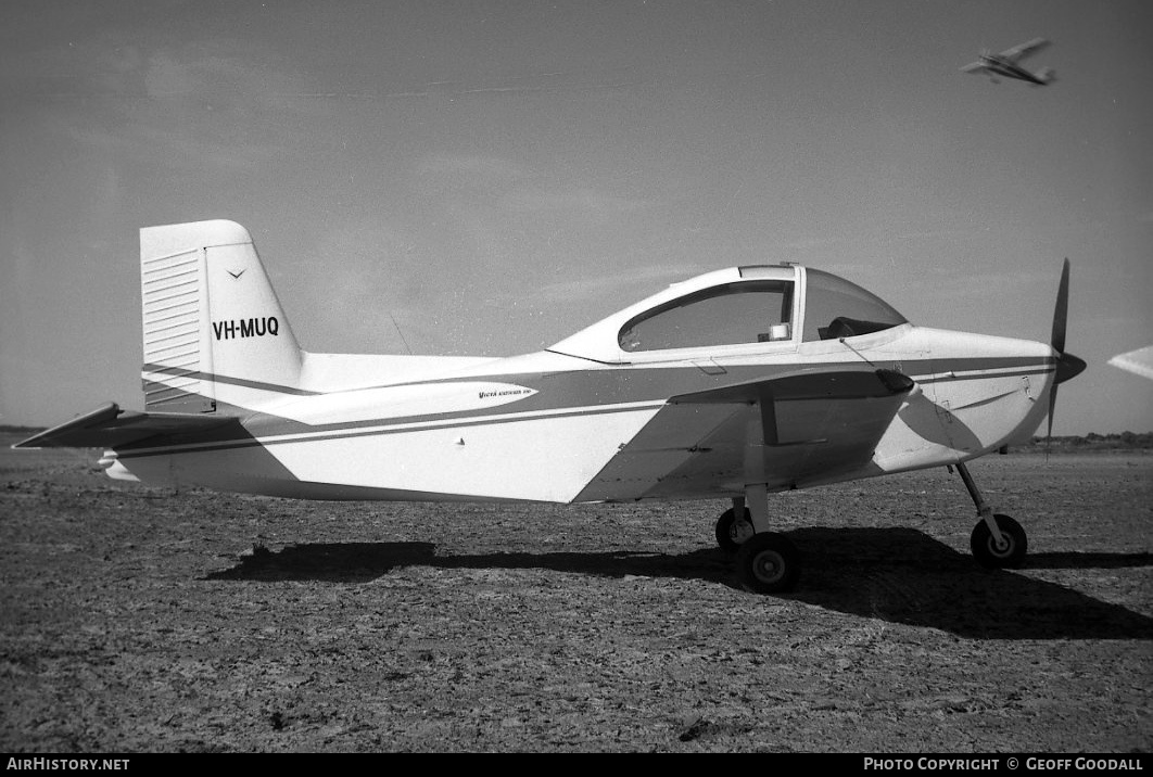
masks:
[(714, 286), (633, 318), (618, 341), (633, 353), (790, 340), (792, 299), (792, 281)]

